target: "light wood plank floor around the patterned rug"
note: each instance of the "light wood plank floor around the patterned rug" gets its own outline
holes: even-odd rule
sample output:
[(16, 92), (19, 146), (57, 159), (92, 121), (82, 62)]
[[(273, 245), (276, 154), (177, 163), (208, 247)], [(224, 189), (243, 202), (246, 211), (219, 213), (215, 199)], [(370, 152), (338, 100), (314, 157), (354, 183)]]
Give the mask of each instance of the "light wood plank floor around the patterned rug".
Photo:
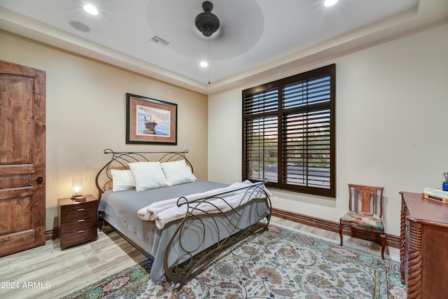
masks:
[[(276, 217), (272, 217), (271, 223), (339, 243), (337, 232)], [(379, 244), (361, 239), (344, 236), (344, 246), (381, 255)], [(398, 260), (399, 255), (398, 249), (386, 249), (386, 258)], [(60, 298), (145, 258), (105, 225), (99, 230), (96, 242), (61, 251), (59, 239), (55, 239), (44, 246), (0, 258), (0, 298)]]

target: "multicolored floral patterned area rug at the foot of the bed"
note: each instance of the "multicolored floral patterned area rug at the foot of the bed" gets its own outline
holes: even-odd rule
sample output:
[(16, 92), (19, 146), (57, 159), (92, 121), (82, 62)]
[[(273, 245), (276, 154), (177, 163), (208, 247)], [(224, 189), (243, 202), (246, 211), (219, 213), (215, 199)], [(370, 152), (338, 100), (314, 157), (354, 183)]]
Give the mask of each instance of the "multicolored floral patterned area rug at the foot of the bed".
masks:
[(151, 260), (65, 298), (406, 298), (400, 265), (269, 225), (176, 290), (148, 277)]

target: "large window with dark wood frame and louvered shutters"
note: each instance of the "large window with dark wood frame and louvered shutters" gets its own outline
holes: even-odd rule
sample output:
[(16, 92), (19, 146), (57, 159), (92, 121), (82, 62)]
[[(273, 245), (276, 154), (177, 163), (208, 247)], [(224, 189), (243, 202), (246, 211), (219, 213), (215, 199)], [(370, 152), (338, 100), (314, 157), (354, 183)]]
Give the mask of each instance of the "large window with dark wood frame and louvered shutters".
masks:
[(243, 90), (243, 180), (335, 197), (335, 69)]

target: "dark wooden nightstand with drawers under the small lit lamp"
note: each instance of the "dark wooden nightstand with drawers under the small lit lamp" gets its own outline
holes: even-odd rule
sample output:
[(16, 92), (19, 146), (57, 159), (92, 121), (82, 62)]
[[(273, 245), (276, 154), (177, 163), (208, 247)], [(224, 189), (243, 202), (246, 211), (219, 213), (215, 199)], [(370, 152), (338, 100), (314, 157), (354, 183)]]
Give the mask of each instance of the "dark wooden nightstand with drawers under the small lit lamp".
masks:
[(62, 250), (97, 239), (98, 200), (92, 195), (85, 196), (84, 202), (76, 202), (70, 197), (57, 200)]

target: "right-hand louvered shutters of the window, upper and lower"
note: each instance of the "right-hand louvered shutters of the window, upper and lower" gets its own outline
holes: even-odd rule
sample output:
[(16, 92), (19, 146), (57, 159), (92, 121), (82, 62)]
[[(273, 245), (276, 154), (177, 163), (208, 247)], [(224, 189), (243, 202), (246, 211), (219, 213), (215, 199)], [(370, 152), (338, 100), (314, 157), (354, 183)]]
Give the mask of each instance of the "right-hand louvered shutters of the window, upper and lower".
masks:
[(330, 188), (330, 76), (283, 86), (282, 181)]

